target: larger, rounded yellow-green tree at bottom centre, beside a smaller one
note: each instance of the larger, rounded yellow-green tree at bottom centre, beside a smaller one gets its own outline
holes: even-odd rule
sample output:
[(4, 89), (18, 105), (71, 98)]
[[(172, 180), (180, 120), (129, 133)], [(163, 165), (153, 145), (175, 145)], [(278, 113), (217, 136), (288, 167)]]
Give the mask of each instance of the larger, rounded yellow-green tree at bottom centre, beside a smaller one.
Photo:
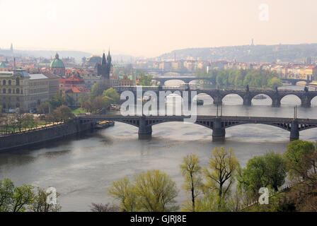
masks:
[(175, 182), (159, 170), (142, 172), (135, 177), (135, 193), (141, 211), (166, 212), (178, 210), (175, 197), (178, 195)]

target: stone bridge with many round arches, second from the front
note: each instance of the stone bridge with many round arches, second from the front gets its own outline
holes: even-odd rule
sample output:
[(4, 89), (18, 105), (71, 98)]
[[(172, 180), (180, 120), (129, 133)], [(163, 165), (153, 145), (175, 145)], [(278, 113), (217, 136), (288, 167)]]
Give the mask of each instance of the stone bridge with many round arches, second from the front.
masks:
[[(125, 90), (129, 90), (132, 93), (134, 93), (134, 97), (137, 97), (137, 87), (135, 86), (117, 86), (115, 87), (118, 93), (122, 93)], [(267, 95), (272, 100), (272, 107), (279, 107), (281, 105), (281, 100), (283, 97), (286, 97), (287, 95), (295, 95), (296, 97), (299, 97), (301, 100), (301, 106), (302, 107), (311, 107), (311, 100), (313, 100), (313, 97), (317, 96), (317, 91), (309, 91), (307, 89), (305, 90), (249, 90), (246, 88), (245, 90), (190, 90), (188, 89), (181, 89), (181, 88), (168, 88), (168, 87), (156, 87), (156, 86), (148, 86), (142, 88), (142, 95), (146, 94), (147, 91), (152, 91), (156, 93), (156, 100), (159, 103), (159, 92), (160, 91), (170, 91), (171, 93), (180, 92), (180, 91), (195, 91), (197, 95), (199, 94), (205, 94), (212, 97), (214, 100), (214, 105), (222, 105), (224, 97), (226, 95), (230, 94), (236, 94), (239, 95), (243, 100), (243, 105), (250, 106), (252, 105), (252, 100), (255, 96), (263, 94)], [(192, 96), (191, 92), (188, 92), (188, 98), (191, 101), (195, 96)], [(180, 95), (183, 97), (183, 93), (180, 92)], [(164, 97), (165, 98), (165, 97)], [(154, 98), (155, 99), (155, 98)], [(159, 106), (159, 105), (158, 105)]]

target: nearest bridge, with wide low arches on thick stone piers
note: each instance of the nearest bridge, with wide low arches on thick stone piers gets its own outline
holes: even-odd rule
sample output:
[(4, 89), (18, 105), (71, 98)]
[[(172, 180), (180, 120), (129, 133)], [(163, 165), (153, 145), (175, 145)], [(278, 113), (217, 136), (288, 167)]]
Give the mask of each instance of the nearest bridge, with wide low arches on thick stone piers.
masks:
[[(89, 121), (120, 121), (139, 128), (139, 138), (151, 138), (152, 126), (168, 121), (184, 121), (186, 116), (127, 116), (121, 115), (90, 115), (77, 117), (81, 124)], [(224, 141), (226, 128), (241, 124), (266, 124), (284, 129), (290, 132), (290, 141), (299, 139), (299, 131), (317, 127), (317, 119), (292, 119), (272, 117), (231, 117), (231, 116), (203, 116), (197, 115), (195, 124), (212, 129), (212, 141)]]

